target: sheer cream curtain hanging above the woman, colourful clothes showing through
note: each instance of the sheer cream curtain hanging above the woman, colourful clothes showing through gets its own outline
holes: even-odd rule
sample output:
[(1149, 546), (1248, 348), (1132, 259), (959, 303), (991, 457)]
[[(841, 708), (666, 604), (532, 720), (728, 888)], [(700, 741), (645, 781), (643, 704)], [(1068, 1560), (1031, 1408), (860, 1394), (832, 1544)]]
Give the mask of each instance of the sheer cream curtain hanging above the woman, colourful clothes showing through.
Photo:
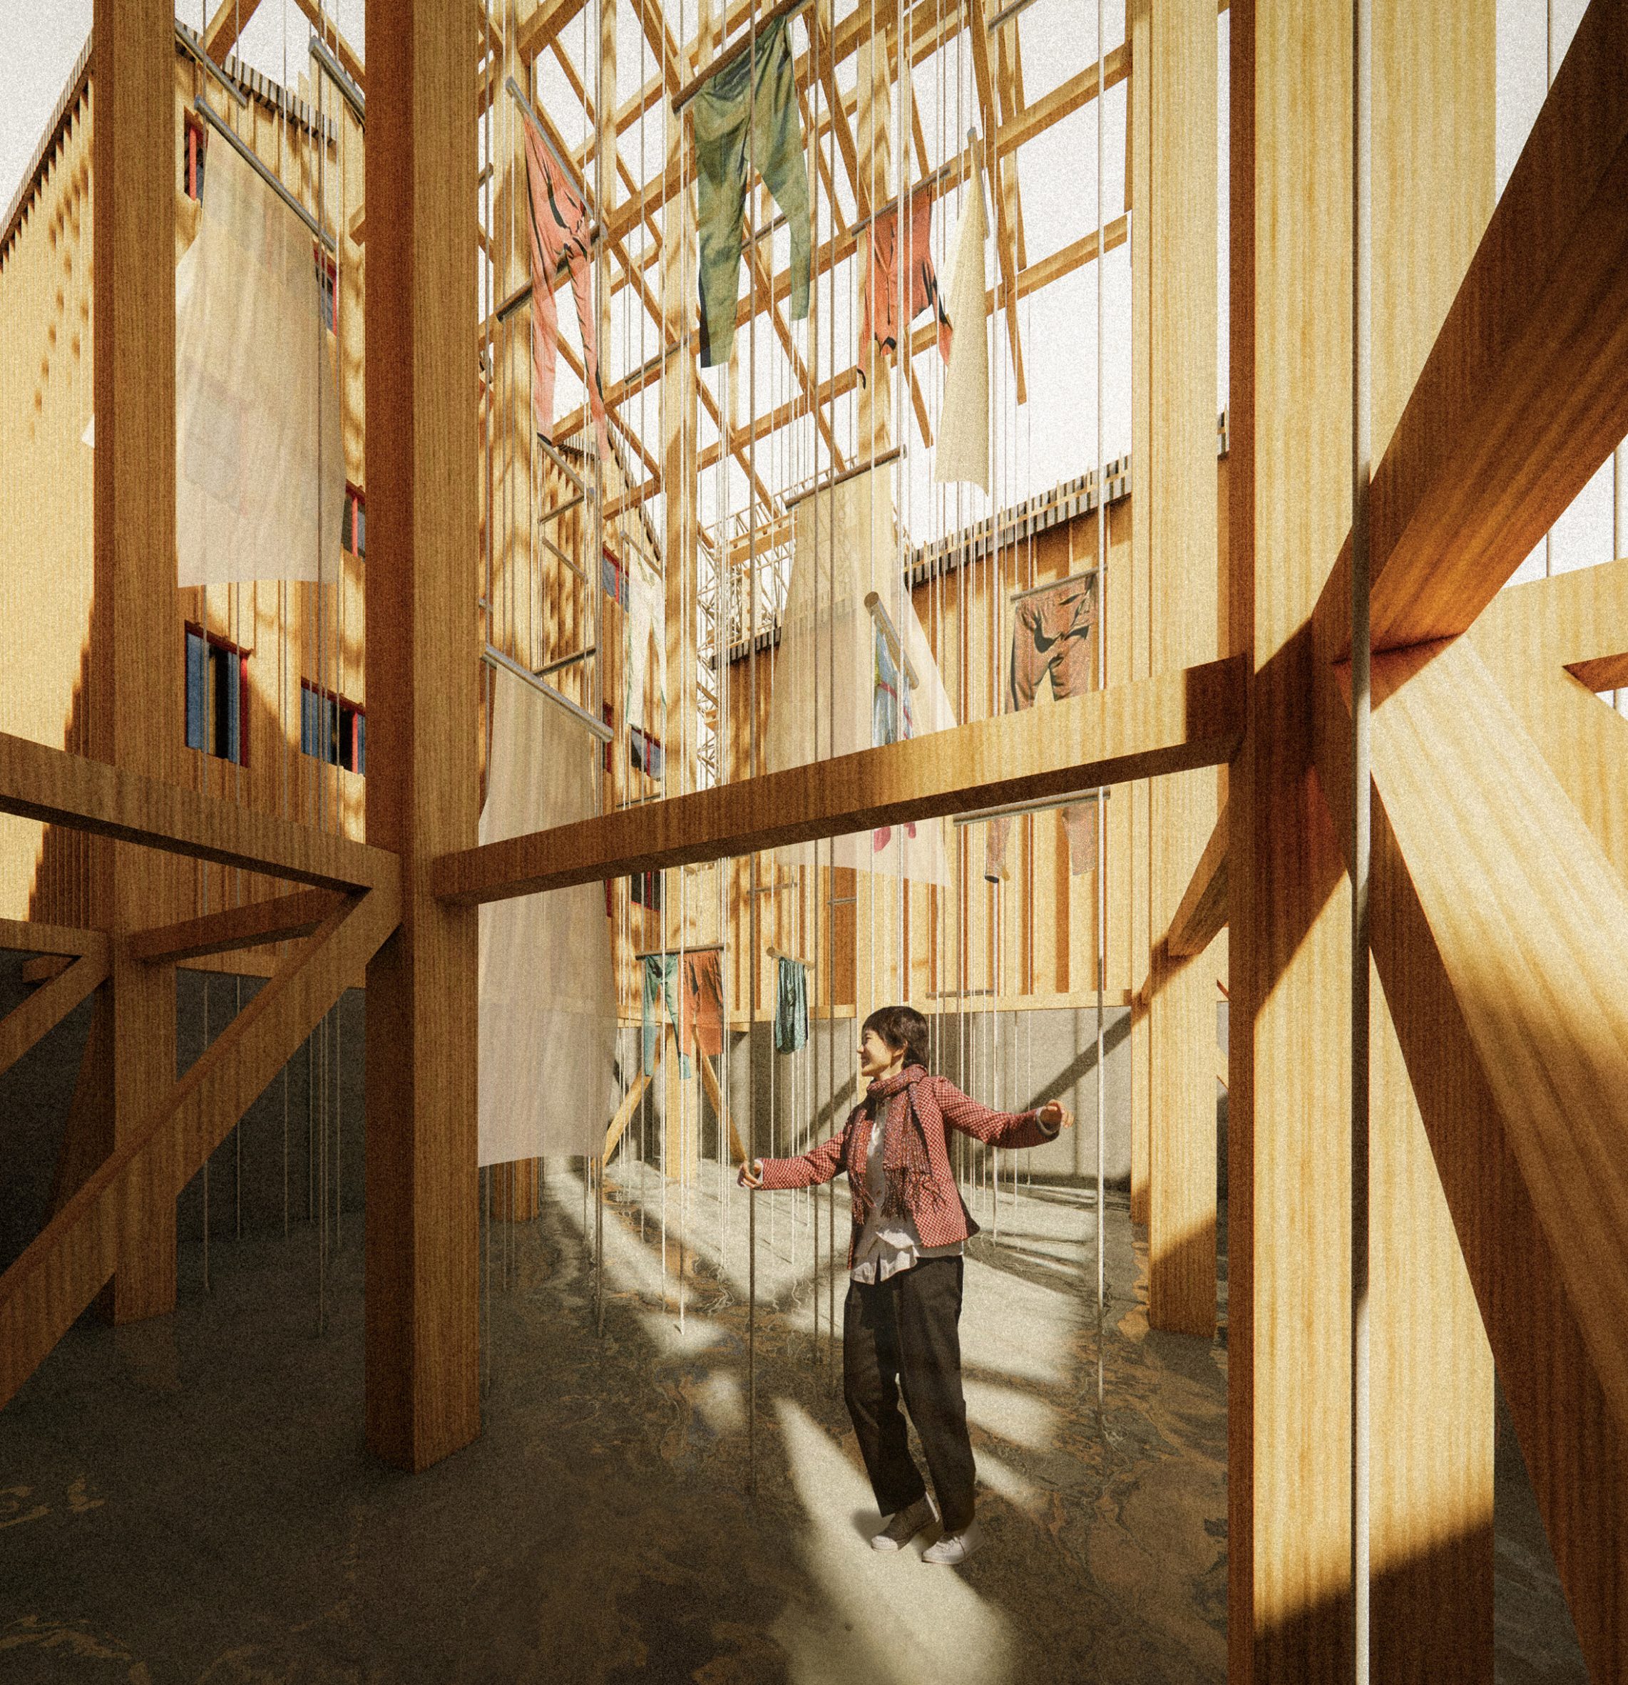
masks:
[[(875, 593), (903, 642), (915, 684), (908, 726), (878, 719)], [(886, 708), (883, 713), (886, 714)], [(833, 755), (853, 755), (898, 736), (925, 736), (956, 725), (939, 664), (905, 590), (898, 554), (892, 465), (871, 468), (802, 499), (794, 514), (792, 576), (768, 698), (767, 770), (784, 772)], [(809, 866), (814, 851), (780, 851), (785, 864)], [(913, 881), (947, 883), (940, 821), (892, 826), (839, 837), (833, 864)]]

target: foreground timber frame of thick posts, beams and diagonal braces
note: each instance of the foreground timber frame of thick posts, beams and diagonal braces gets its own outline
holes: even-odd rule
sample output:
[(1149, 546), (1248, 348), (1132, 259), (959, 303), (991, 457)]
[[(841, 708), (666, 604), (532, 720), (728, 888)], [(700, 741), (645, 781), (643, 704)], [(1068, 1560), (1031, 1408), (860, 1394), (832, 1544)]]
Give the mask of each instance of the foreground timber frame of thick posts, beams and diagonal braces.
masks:
[[(474, 903), (1023, 795), (1154, 780), (1149, 800), (1173, 846), (1148, 861), (1141, 913), (1149, 952), (1163, 955), (1139, 986), (1158, 1003), (1148, 1011), (1148, 1058), (1163, 1115), (1148, 1126), (1139, 1191), (1170, 1242), (1158, 1292), (1178, 1326), (1205, 1326), (1203, 1245), (1188, 1244), (1205, 1213), (1197, 1169), (1193, 1180), (1180, 1168), (1161, 1181), (1161, 1164), (1195, 1164), (1178, 1112), (1213, 1068), (1200, 1070), (1186, 1056), (1190, 1038), (1168, 1028), (1198, 1011), (1200, 994), (1208, 1008), (1207, 989), (1186, 999), (1176, 960), (1218, 930), (1222, 908), (1232, 954), (1230, 1677), (1262, 1685), (1341, 1677), (1350, 509), (1348, 324), (1330, 300), (1345, 295), (1352, 263), (1348, 121), (1335, 133), (1335, 120), (1350, 115), (1348, 3), (1232, 5), (1230, 531), (1227, 575), (1210, 580), (1222, 588), (1213, 608), (1200, 602), (1192, 625), (1173, 612), (1146, 625), (1133, 676), (1060, 706), (1050, 730), (1035, 730), (1033, 718), (967, 725), (854, 755), (817, 777), (811, 768), (686, 789), (477, 848), (467, 753), (474, 667), (450, 654), (475, 639), (467, 558), (477, 312), (467, 259), (477, 236), (474, 202), (448, 184), (474, 179), (475, 116), (504, 66), (554, 45), (578, 7), (544, 0), (524, 20), (507, 10), (502, 30), (477, 8), (467, 30), (448, 32), (442, 8), (378, 0), (366, 71), (330, 37), (366, 86), (374, 120), (367, 320), (383, 350), (367, 367), (371, 842), (180, 790), (163, 765), (143, 765), (111, 721), (101, 760), (0, 740), (0, 810), (89, 832), (106, 861), (96, 928), (3, 932), (8, 945), (76, 959), (0, 1024), (0, 1058), (17, 1058), (49, 1021), (106, 989), (110, 1033), (99, 1046), (111, 1122), (99, 1164), (0, 1277), (0, 1404), (110, 1279), (128, 1287), (115, 1314), (174, 1301), (163, 1247), (175, 1195), (366, 966), (369, 1442), (408, 1468), (447, 1456), (479, 1431)], [(1628, 433), (1628, 0), (1589, 7), (1495, 211), (1490, 155), (1473, 145), (1485, 136), (1454, 142), (1441, 128), (1485, 94), (1490, 10), (1490, 0), (1375, 7), (1377, 62), (1409, 71), (1380, 79), (1392, 94), (1377, 167), (1404, 211), (1377, 234), (1392, 339), (1380, 359), (1372, 585), (1372, 959), (1387, 1008), (1375, 1014), (1374, 1068), (1377, 1174), (1389, 1195), (1375, 1222), (1384, 1260), (1375, 1419), (1389, 1437), (1375, 1476), (1374, 1559), (1394, 1650), (1380, 1673), (1394, 1680), (1490, 1675), (1488, 1346), (1584, 1655), (1611, 1678), (1628, 1653), (1628, 736), (1589, 694), (1628, 677), (1628, 563), (1498, 595)], [(212, 56), (251, 12), (253, 3), (221, 7), (207, 32)], [(733, 7), (721, 34), (747, 12)], [(853, 19), (833, 29), (816, 12), (829, 49), (822, 62), (858, 51), (885, 57), (878, 45), (893, 15), (878, 0), (865, 12), (868, 29)], [(662, 71), (615, 113), (619, 128), (710, 57), (681, 49), (659, 7), (640, 17)], [(1011, 308), (1025, 280), (1021, 206), (1003, 158), (1025, 128), (1099, 89), (1092, 71), (1089, 83), (1077, 78), (999, 116), (1004, 47), (991, 67), (981, 8), (971, 5), (966, 20), (984, 128), (996, 136), (994, 303), (1021, 356)], [(170, 30), (169, 8), (153, 0), (98, 0), (98, 273), (108, 297), (96, 376), (98, 576), (121, 615), (131, 605), (98, 659), (115, 674), (106, 694), (121, 698), (118, 706), (157, 682), (135, 671), (128, 649), (143, 593), (170, 583), (169, 548), (143, 539), (133, 551), (125, 538), (174, 527), (170, 347), (128, 330), (172, 318), (167, 254), (155, 263), (140, 249), (140, 224), (170, 192), (170, 148), (137, 143), (172, 123)], [(1202, 259), (1205, 243), (1203, 209), (1180, 199), (1181, 170), (1202, 172), (1203, 153), (1166, 168), (1163, 113), (1207, 74), (1213, 81), (1213, 57), (1205, 59), (1213, 7), (1133, 8), (1131, 39), (1133, 52), (1151, 54), (1143, 84), (1151, 98), (1133, 125), (1133, 153), (1143, 148), (1149, 170), (1133, 168), (1133, 179), (1138, 192), (1146, 180), (1153, 199), (1148, 320), (1159, 342), (1180, 345), (1190, 329), (1180, 320), (1192, 278), (1183, 266)], [(1111, 76), (1127, 74), (1127, 64), (1122, 52)], [(858, 187), (846, 104), (831, 93)], [(1321, 168), (1308, 179), (1301, 165), (1313, 150)], [(625, 265), (620, 285), (647, 305), (652, 295), (620, 243), (639, 224), (654, 233), (659, 211), (666, 243), (677, 243), (677, 162), (605, 207), (607, 244)], [(607, 187), (602, 174), (602, 194)], [(1422, 216), (1424, 204), (1446, 211)], [(1431, 249), (1411, 246), (1407, 227)], [(1092, 253), (1082, 244), (1077, 261), (1106, 238), (1090, 236)], [(110, 275), (120, 276), (120, 313)], [(772, 276), (763, 308), (787, 286)], [(691, 356), (676, 340), (662, 362)], [(1176, 362), (1170, 379), (1153, 364), (1149, 389), (1168, 411), (1141, 455), (1156, 494), (1170, 494), (1143, 541), (1154, 615), (1190, 585), (1175, 554), (1203, 526), (1202, 482), (1212, 472), (1197, 443), (1208, 440), (1195, 420), (1200, 398), (1183, 393)], [(612, 408), (632, 389), (608, 394)], [(1532, 425), (1535, 415), (1544, 426)], [(661, 468), (637, 441), (635, 453), (652, 472), (671, 472), (669, 445)], [(1222, 800), (1207, 772), (1217, 767), (1229, 768)], [(1540, 834), (1530, 814), (1544, 816)], [(174, 854), (307, 888), (251, 915), (153, 927), (137, 908), (162, 907), (155, 863)], [(270, 986), (174, 1082), (162, 1068), (174, 1038), (170, 1016), (163, 1040), (167, 966), (287, 937), (300, 945)], [(135, 1051), (143, 1026), (157, 1033), (157, 1055)], [(1210, 1212), (1213, 1222), (1213, 1193)], [(1441, 1328), (1433, 1351), (1421, 1351), (1414, 1333), (1426, 1297)], [(1443, 1609), (1454, 1611), (1451, 1623)]]

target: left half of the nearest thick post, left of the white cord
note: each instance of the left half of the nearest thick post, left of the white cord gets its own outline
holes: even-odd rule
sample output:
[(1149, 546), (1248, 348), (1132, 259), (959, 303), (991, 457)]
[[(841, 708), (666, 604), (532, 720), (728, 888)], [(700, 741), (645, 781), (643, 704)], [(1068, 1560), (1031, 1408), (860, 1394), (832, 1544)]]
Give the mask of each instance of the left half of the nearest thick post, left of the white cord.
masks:
[(1350, 3), (1234, 0), (1230, 35), (1229, 1678), (1301, 1685), (1350, 1670), (1350, 901), (1309, 639), (1350, 527)]

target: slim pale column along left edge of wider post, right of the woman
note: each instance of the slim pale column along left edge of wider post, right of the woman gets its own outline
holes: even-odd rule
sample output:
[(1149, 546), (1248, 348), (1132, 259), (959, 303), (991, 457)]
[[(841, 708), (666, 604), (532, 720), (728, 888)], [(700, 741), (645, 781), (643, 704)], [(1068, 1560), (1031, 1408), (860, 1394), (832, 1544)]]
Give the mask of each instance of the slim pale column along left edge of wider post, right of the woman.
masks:
[[(1153, 194), (1153, 8), (1151, 0), (1131, 0), (1126, 19), (1131, 44), (1131, 88), (1126, 110), (1129, 130), (1127, 177), (1131, 201), (1131, 576), (1124, 603), (1131, 618), (1127, 679), (1146, 679), (1151, 652), (1148, 629), (1148, 556), (1153, 544), (1153, 499), (1141, 490), (1153, 457), (1153, 359), (1149, 318), (1153, 305), (1151, 229), (1144, 206)], [(1131, 1222), (1148, 1222), (1148, 1117), (1153, 1075), (1148, 1058), (1148, 971), (1153, 932), (1148, 922), (1148, 784), (1124, 790), (1131, 809), (1127, 903), (1131, 987)]]

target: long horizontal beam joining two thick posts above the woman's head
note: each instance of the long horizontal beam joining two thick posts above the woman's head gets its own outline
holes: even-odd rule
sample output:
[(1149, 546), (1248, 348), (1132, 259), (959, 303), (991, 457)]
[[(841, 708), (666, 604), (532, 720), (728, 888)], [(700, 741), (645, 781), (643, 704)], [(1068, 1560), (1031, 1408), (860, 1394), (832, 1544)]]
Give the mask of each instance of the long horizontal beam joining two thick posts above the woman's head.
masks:
[(438, 896), (497, 901), (691, 861), (1068, 795), (1232, 758), (1244, 667), (1213, 661), (743, 784), (445, 854)]

